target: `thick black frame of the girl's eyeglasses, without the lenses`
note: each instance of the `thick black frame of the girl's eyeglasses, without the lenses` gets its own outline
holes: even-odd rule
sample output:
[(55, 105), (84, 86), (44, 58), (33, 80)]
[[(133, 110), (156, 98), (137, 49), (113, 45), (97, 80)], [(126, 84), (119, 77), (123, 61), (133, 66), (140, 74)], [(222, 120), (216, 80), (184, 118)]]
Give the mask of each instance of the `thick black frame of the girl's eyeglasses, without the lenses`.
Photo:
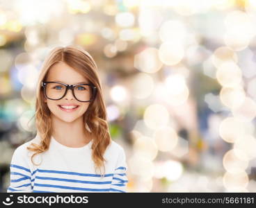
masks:
[[(45, 87), (47, 86), (47, 83), (56, 83), (56, 84), (64, 85), (66, 88), (65, 88), (65, 93), (63, 94), (63, 96), (62, 96), (61, 98), (58, 98), (58, 99), (49, 98), (49, 97), (47, 96), (47, 94), (46, 94), (46, 88), (45, 88)], [(93, 89), (93, 96), (90, 98), (89, 101), (79, 101), (79, 99), (77, 99), (77, 97), (74, 95), (74, 87), (79, 86), (79, 85), (88, 85), (88, 86), (92, 87), (92, 89)], [(48, 99), (50, 99), (50, 100), (53, 100), (53, 101), (59, 101), (59, 100), (61, 100), (62, 98), (64, 98), (65, 95), (67, 94), (67, 90), (68, 90), (68, 89), (71, 89), (72, 95), (74, 96), (74, 98), (75, 98), (77, 101), (83, 102), (83, 103), (87, 103), (87, 102), (93, 101), (93, 100), (95, 99), (95, 97), (96, 97), (96, 94), (97, 94), (97, 87), (95, 87), (94, 85), (91, 85), (91, 84), (87, 84), (87, 83), (84, 83), (84, 84), (76, 84), (76, 85), (67, 85), (67, 84), (58, 83), (58, 82), (44, 82), (44, 81), (42, 81), (41, 86), (42, 86), (43, 89), (44, 89), (45, 97), (48, 98)]]

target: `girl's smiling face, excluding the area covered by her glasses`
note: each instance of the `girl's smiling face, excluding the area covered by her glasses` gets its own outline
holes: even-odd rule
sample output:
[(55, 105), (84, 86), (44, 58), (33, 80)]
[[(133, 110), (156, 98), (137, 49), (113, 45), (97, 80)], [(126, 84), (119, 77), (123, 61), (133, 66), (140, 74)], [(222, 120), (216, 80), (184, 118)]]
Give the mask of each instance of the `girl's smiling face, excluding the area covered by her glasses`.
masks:
[[(58, 82), (67, 85), (75, 85), (78, 83), (89, 83), (88, 79), (81, 76), (80, 73), (75, 71), (72, 67), (65, 64), (65, 62), (58, 62), (54, 64), (51, 69), (49, 69), (46, 82)], [(58, 87), (56, 87), (57, 89)], [(59, 89), (59, 88), (58, 88)], [(88, 100), (90, 100), (90, 95), (88, 95)], [(80, 102), (74, 98), (72, 91), (67, 90), (67, 94), (61, 98), (61, 100), (53, 101), (45, 98), (45, 103), (51, 111), (51, 116), (55, 119), (60, 119), (61, 121), (71, 123), (77, 119), (82, 119), (83, 114), (86, 112), (90, 102)], [(75, 109), (69, 108), (67, 105), (77, 105)]]

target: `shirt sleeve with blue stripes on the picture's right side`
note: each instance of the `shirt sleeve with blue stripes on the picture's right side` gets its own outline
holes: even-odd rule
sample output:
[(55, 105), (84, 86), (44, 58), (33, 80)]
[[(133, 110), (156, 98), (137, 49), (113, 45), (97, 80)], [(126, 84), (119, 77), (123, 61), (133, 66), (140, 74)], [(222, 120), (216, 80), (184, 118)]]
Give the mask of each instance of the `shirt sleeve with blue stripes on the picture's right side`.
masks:
[(126, 192), (128, 183), (125, 151), (121, 148), (109, 192)]

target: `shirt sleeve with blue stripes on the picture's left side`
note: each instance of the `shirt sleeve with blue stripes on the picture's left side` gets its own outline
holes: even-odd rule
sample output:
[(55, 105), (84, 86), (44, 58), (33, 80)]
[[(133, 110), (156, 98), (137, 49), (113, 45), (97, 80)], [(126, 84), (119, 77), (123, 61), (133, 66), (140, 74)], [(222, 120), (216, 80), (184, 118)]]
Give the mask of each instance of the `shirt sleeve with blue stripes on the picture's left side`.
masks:
[(19, 146), (13, 153), (10, 163), (10, 186), (7, 192), (32, 192), (31, 171), (26, 148)]

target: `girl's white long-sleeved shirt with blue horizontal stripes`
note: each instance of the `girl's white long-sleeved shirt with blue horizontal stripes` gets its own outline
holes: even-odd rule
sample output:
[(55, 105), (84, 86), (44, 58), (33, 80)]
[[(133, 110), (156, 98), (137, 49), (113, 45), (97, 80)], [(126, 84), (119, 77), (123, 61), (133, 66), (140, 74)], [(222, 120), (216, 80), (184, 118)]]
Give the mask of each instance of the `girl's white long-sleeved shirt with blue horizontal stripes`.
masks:
[(104, 177), (95, 173), (92, 140), (81, 148), (70, 148), (51, 137), (49, 149), (35, 155), (33, 164), (33, 153), (26, 147), (39, 141), (36, 135), (13, 153), (7, 192), (126, 192), (125, 151), (115, 141), (104, 153)]

